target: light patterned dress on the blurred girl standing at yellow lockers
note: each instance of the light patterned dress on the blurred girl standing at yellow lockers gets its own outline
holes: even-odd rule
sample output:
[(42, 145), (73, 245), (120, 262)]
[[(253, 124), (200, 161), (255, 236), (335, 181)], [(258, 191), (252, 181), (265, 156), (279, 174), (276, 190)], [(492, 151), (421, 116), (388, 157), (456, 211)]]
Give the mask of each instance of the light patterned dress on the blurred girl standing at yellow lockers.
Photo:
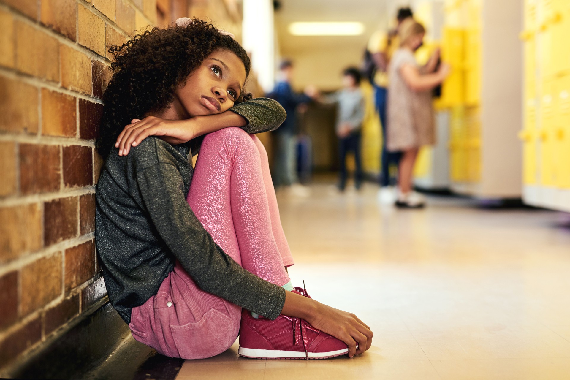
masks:
[(431, 91), (416, 92), (406, 84), (400, 73), (405, 64), (418, 67), (413, 52), (400, 48), (394, 52), (388, 68), (386, 148), (390, 152), (435, 143)]

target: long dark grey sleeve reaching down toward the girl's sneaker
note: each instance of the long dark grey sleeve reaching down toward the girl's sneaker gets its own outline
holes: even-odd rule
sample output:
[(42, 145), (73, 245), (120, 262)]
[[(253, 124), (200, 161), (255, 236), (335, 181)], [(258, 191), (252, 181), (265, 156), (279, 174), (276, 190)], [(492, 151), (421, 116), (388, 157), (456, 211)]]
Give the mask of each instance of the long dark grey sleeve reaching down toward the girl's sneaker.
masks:
[(279, 316), (285, 290), (243, 269), (214, 243), (186, 202), (176, 166), (158, 162), (138, 171), (136, 180), (158, 234), (198, 287), (266, 318)]

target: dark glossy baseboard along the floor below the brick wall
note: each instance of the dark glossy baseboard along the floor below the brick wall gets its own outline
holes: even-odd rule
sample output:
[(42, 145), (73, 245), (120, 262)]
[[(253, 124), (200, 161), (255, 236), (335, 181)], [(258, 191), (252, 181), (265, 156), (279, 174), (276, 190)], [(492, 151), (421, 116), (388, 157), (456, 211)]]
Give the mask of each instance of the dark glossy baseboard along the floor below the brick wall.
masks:
[(7, 370), (21, 379), (176, 378), (183, 359), (168, 358), (135, 341), (107, 301)]

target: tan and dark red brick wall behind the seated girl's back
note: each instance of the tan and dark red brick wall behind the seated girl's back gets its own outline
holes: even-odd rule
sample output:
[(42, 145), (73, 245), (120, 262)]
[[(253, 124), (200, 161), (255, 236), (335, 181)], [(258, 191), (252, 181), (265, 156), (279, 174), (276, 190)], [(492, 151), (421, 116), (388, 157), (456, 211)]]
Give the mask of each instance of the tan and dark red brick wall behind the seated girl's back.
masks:
[(106, 297), (93, 242), (105, 46), (151, 23), (156, 0), (0, 0), (0, 367)]

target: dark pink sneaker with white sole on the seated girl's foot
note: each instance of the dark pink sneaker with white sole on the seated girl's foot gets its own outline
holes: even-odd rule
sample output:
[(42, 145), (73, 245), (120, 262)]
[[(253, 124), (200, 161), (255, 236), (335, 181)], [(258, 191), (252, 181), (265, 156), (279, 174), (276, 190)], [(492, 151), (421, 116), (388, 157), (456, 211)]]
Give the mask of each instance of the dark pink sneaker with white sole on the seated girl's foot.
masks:
[[(306, 289), (294, 292), (310, 298)], [(257, 359), (327, 359), (347, 354), (348, 347), (301, 318), (281, 314), (271, 321), (243, 309), (238, 353)]]

